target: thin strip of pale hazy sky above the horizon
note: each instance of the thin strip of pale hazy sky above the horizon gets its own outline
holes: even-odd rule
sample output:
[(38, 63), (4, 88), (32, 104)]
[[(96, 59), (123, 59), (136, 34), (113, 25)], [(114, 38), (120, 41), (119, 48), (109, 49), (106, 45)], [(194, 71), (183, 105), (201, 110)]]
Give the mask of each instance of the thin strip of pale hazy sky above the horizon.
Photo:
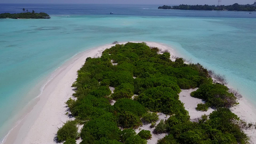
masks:
[[(0, 0), (0, 3), (94, 3), (94, 4), (209, 4), (218, 0)], [(222, 5), (253, 4), (254, 0), (221, 0)]]

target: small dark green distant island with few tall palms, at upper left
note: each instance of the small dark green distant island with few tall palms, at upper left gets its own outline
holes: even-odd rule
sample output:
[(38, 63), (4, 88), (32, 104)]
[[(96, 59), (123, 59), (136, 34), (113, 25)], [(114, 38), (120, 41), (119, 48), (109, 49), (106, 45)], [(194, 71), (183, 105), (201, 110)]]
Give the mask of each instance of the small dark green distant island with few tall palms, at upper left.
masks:
[(22, 13), (1, 13), (0, 18), (11, 18), (11, 19), (50, 19), (49, 14), (45, 12), (35, 13), (22, 12)]

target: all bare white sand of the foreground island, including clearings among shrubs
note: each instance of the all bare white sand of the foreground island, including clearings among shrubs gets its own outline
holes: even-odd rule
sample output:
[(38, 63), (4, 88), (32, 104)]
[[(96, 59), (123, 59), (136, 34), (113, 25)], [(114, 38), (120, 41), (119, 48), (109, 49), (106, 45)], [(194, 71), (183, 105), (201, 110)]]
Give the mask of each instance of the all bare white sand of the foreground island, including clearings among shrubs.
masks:
[[(168, 50), (172, 56), (171, 60), (175, 60), (174, 49), (171, 47), (154, 42), (146, 42), (146, 44), (149, 47), (158, 47), (161, 49), (161, 52)], [(56, 144), (54, 138), (58, 128), (61, 128), (67, 120), (73, 119), (66, 115), (67, 107), (65, 102), (74, 93), (71, 85), (77, 78), (77, 71), (83, 66), (87, 57), (99, 57), (103, 50), (112, 46), (114, 45), (108, 44), (86, 50), (58, 68), (55, 76), (45, 85), (37, 104), (34, 108), (27, 111), (25, 118), (12, 129), (3, 144)], [(191, 97), (191, 91), (183, 90), (180, 94), (180, 100), (184, 103), (185, 109), (189, 111), (191, 119), (194, 119), (200, 117), (205, 112), (195, 110), (196, 105), (201, 100)], [(248, 105), (245, 99), (239, 100), (239, 103), (240, 105), (232, 108), (232, 111), (242, 120), (256, 122), (256, 109)], [(211, 111), (208, 110), (207, 114)], [(256, 143), (256, 130), (251, 129), (245, 132), (252, 138), (252, 143)], [(153, 137), (149, 143), (154, 144), (157, 142), (157, 139), (158, 137)]]

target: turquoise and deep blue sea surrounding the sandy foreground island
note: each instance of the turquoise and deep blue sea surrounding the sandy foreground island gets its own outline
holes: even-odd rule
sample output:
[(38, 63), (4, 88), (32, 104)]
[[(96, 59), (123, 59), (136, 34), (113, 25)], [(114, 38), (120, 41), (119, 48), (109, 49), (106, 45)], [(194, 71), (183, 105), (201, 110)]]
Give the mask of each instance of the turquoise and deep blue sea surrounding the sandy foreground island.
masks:
[(158, 6), (0, 4), (0, 13), (25, 8), (51, 16), (0, 19), (0, 139), (40, 94), (50, 73), (77, 53), (113, 41), (164, 43), (177, 55), (226, 75), (229, 85), (256, 105), (256, 12)]

